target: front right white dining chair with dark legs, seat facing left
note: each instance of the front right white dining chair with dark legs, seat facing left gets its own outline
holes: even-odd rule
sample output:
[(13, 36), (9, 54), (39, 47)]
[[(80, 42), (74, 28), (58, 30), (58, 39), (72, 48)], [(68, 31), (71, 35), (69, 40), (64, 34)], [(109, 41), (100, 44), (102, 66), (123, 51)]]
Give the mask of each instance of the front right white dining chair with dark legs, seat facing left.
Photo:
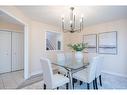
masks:
[(93, 82), (93, 88), (96, 88), (95, 84), (95, 75), (96, 75), (96, 66), (98, 63), (99, 57), (93, 57), (90, 61), (90, 64), (87, 68), (80, 70), (73, 74), (73, 78), (87, 83), (87, 89), (90, 88), (90, 83)]

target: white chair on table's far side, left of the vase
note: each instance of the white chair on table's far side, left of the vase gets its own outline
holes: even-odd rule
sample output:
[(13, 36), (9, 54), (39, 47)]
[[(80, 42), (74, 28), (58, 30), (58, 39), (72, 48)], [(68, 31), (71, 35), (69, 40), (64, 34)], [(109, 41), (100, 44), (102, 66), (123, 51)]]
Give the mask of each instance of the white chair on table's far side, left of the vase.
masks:
[[(66, 64), (66, 58), (64, 53), (57, 53), (57, 63)], [(67, 70), (63, 67), (58, 67), (58, 73), (67, 76)]]

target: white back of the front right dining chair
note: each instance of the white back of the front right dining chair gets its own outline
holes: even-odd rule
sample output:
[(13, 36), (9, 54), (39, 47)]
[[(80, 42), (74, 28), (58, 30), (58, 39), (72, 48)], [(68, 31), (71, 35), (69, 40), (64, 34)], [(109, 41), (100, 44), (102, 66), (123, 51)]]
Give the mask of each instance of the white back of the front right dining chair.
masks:
[(88, 81), (92, 82), (96, 76), (96, 67), (99, 61), (99, 56), (93, 57), (90, 60), (90, 65), (87, 68)]

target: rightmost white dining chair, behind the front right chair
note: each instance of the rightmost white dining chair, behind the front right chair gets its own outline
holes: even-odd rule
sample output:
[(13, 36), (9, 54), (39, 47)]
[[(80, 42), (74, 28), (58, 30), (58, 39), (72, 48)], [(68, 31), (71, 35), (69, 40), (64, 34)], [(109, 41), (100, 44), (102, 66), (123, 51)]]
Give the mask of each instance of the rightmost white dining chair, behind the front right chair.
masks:
[(103, 61), (104, 61), (104, 56), (99, 55), (97, 68), (96, 68), (96, 77), (95, 77), (95, 83), (96, 83), (97, 89), (98, 89), (98, 86), (97, 86), (97, 79), (98, 78), (99, 78), (100, 86), (102, 86), (101, 73), (102, 73), (102, 69), (103, 69)]

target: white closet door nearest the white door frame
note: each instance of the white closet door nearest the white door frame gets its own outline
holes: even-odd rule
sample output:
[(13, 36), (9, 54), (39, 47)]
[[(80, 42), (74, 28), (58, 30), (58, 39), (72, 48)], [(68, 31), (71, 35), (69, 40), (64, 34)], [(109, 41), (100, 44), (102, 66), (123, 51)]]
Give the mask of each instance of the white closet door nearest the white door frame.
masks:
[(12, 71), (23, 69), (23, 33), (12, 32)]

